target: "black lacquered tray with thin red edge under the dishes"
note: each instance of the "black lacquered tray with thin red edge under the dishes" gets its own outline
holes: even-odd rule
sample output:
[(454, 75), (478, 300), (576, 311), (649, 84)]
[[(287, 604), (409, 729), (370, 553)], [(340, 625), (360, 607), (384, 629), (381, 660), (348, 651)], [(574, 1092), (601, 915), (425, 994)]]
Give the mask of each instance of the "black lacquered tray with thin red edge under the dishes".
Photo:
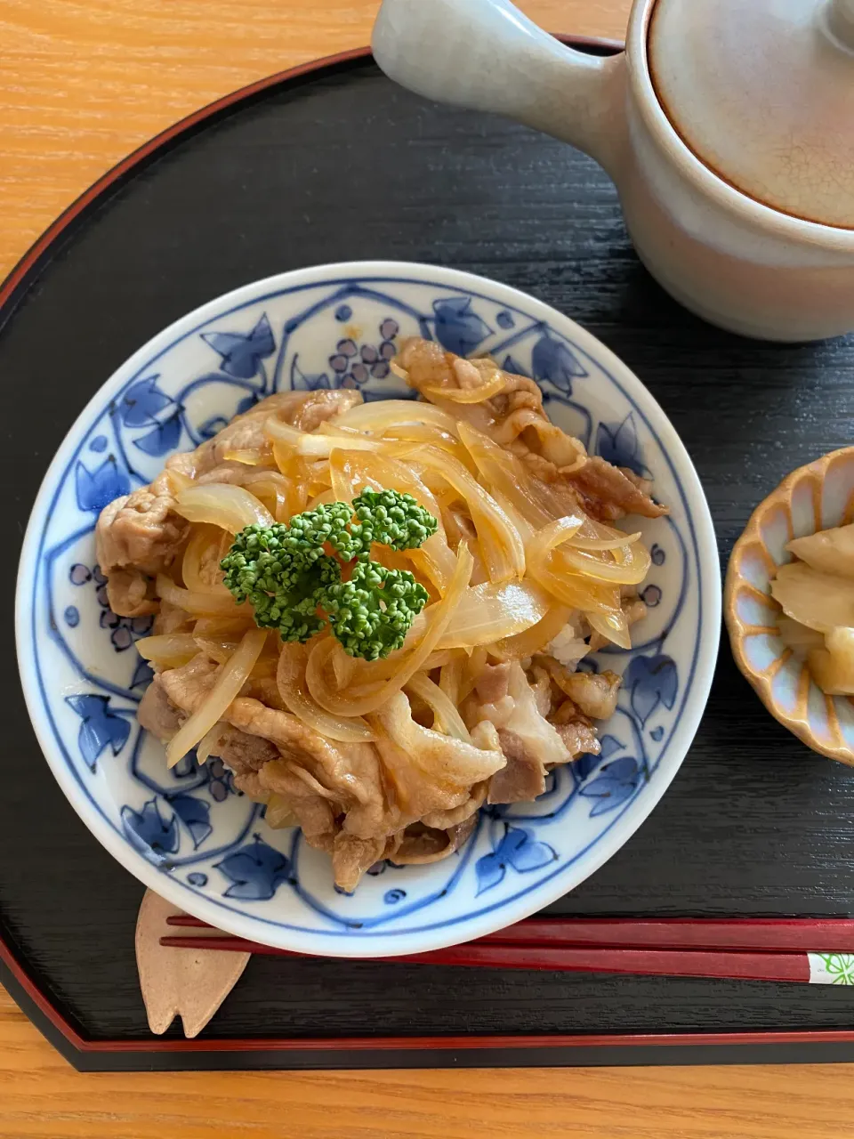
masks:
[[(606, 46), (589, 46), (607, 51)], [(633, 368), (682, 435), (724, 559), (794, 467), (854, 437), (854, 338), (717, 331), (641, 268), (616, 191), (567, 146), (436, 107), (355, 52), (272, 77), (155, 139), (84, 196), (0, 290), (7, 544), (104, 379), (204, 301), (304, 264), (391, 257), (541, 297)], [(11, 538), (9, 538), (11, 535)], [(19, 693), (3, 562), (0, 976), (83, 1068), (854, 1059), (845, 988), (253, 959), (197, 1041), (147, 1030), (142, 887), (54, 782)], [(854, 772), (762, 708), (724, 644), (664, 802), (550, 908), (575, 915), (847, 915)]]

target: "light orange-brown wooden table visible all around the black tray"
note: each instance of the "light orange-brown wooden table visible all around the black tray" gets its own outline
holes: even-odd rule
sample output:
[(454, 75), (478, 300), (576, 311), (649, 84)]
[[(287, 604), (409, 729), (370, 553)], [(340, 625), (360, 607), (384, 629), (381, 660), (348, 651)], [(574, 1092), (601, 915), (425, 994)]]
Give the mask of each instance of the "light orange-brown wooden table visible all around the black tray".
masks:
[[(429, 2), (429, 0), (422, 0)], [(0, 279), (128, 151), (262, 75), (364, 44), (376, 0), (0, 0)], [(629, 0), (525, 0), (621, 38)], [(79, 1075), (0, 990), (0, 1137), (854, 1136), (846, 1066)]]

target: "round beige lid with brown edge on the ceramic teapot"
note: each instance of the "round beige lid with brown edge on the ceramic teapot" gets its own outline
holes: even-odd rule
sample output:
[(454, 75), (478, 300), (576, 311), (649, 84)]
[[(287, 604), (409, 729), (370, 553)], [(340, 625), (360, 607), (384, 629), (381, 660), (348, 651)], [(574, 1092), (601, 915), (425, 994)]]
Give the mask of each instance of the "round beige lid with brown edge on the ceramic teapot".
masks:
[(658, 0), (662, 108), (736, 189), (854, 229), (854, 0)]

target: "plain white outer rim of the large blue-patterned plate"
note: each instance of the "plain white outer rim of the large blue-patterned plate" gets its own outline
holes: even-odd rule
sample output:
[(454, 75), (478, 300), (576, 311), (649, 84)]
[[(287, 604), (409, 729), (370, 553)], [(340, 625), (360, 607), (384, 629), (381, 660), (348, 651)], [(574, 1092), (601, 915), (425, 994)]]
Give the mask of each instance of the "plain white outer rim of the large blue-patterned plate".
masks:
[[(164, 875), (134, 851), (130, 843), (100, 814), (89, 797), (81, 792), (74, 775), (65, 763), (60, 747), (54, 738), (54, 731), (48, 724), (40, 681), (36, 677), (34, 654), (31, 657), (26, 652), (31, 642), (34, 644), (36, 636), (34, 630), (35, 608), (32, 605), (33, 595), (30, 587), (32, 572), (38, 571), (48, 506), (80, 439), (89, 427), (92, 415), (100, 413), (104, 403), (115, 391), (121, 390), (129, 377), (141, 366), (151, 362), (171, 342), (186, 336), (197, 326), (222, 316), (225, 310), (257, 301), (268, 293), (322, 285), (327, 281), (334, 281), (339, 276), (350, 278), (379, 277), (397, 281), (414, 280), (416, 284), (420, 284), (419, 278), (422, 278), (426, 284), (436, 282), (451, 288), (458, 287), (466, 292), (479, 292), (493, 301), (522, 308), (535, 319), (543, 320), (558, 331), (563, 329), (569, 338), (597, 361), (600, 361), (618, 385), (626, 390), (638, 409), (655, 425), (662, 451), (667, 457), (673, 467), (674, 476), (681, 484), (687, 506), (687, 522), (693, 532), (697, 551), (698, 596), (701, 608), (699, 617), (700, 644), (697, 646), (691, 691), (685, 699), (682, 716), (674, 727), (665, 755), (656, 770), (656, 786), (646, 788), (642, 809), (626, 810), (621, 813), (600, 834), (592, 850), (581, 852), (569, 866), (555, 871), (552, 876), (522, 896), (509, 898), (500, 904), (487, 907), (469, 921), (458, 923), (453, 927), (443, 928), (440, 926), (424, 932), (405, 932), (399, 939), (388, 937), (383, 943), (383, 956), (399, 956), (445, 948), (483, 936), (528, 917), (568, 891), (576, 888), (629, 841), (670, 787), (700, 723), (717, 657), (722, 596), (717, 543), (706, 495), (690, 456), (664, 410), (629, 366), (592, 333), (545, 302), (501, 281), (462, 270), (408, 261), (370, 260), (309, 265), (249, 281), (207, 301), (156, 333), (113, 371), (87, 401), (57, 449), (42, 478), (22, 547), (15, 600), (15, 634), (22, 687), (42, 754), (71, 805), (101, 845), (125, 870), (173, 904), (228, 933), (248, 940), (318, 956), (364, 958), (376, 956), (376, 940), (353, 939), (343, 934), (338, 936), (296, 932), (286, 926), (271, 925), (263, 918), (245, 911), (221, 908), (214, 900), (196, 893), (181, 882)], [(635, 800), (632, 800), (632, 803), (634, 802)], [(578, 874), (578, 863), (584, 868), (581, 874)], [(454, 933), (454, 929), (458, 932)], [(459, 935), (460, 932), (462, 936)], [(404, 942), (405, 944), (403, 944)]]

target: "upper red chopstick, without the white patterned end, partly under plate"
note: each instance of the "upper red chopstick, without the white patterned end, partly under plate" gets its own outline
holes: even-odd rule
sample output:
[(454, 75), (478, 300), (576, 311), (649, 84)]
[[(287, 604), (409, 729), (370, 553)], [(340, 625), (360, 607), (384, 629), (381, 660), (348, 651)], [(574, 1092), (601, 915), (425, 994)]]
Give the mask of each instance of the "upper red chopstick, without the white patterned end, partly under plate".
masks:
[[(192, 929), (212, 928), (206, 921), (189, 913), (169, 918), (169, 925)], [(245, 944), (255, 945), (254, 942)], [(611, 949), (854, 953), (854, 919), (531, 918), (468, 944), (534, 945), (543, 949), (590, 945)], [(264, 948), (253, 948), (252, 952), (261, 952)]]

